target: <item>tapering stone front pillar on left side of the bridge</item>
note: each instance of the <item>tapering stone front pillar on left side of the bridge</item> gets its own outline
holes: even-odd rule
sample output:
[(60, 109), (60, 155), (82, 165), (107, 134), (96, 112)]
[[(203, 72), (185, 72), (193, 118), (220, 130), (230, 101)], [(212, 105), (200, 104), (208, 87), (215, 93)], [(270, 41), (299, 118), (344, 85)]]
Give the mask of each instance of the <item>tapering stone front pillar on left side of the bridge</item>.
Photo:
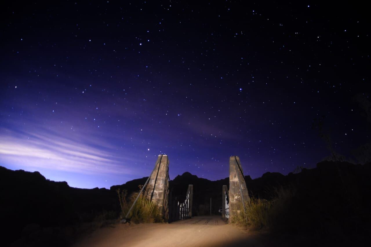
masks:
[(162, 217), (167, 221), (169, 216), (169, 159), (167, 155), (158, 155), (144, 195), (157, 205)]

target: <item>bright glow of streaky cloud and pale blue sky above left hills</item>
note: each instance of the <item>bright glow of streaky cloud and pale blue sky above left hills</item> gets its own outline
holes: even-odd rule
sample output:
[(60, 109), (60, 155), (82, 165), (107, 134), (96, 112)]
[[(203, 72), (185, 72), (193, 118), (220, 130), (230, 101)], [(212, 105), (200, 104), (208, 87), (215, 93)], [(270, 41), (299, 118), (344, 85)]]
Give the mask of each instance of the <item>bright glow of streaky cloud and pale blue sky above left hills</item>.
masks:
[(138, 174), (142, 171), (129, 165), (138, 162), (137, 159), (131, 155), (119, 156), (109, 146), (94, 147), (99, 144), (102, 142), (82, 144), (63, 134), (45, 130), (20, 132), (1, 128), (0, 165), (39, 171), (48, 179), (67, 181), (70, 186), (81, 188), (109, 188), (112, 185), (105, 185), (100, 178), (114, 178), (109, 179), (111, 183), (120, 184), (140, 177)]

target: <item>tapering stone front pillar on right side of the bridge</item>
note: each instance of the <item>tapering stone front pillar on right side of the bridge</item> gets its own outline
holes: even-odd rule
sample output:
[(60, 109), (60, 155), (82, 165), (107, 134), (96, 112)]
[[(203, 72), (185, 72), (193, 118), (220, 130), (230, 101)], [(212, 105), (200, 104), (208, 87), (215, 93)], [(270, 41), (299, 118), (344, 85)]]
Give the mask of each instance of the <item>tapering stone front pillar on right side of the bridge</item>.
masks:
[(240, 158), (231, 156), (229, 158), (229, 215), (233, 217), (241, 210), (243, 205), (250, 202), (249, 192), (243, 176)]

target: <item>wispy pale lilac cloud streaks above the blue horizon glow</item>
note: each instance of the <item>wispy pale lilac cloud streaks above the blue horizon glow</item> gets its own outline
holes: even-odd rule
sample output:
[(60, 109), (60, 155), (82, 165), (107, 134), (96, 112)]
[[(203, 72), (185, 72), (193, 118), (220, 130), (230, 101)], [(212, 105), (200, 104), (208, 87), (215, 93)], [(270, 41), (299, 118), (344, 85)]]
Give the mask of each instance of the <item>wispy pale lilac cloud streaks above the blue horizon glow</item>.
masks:
[[(111, 150), (102, 150), (81, 142), (51, 134), (0, 129), (0, 160), (30, 168), (56, 169), (83, 174), (131, 174), (125, 160)], [(131, 161), (131, 158), (126, 160)]]

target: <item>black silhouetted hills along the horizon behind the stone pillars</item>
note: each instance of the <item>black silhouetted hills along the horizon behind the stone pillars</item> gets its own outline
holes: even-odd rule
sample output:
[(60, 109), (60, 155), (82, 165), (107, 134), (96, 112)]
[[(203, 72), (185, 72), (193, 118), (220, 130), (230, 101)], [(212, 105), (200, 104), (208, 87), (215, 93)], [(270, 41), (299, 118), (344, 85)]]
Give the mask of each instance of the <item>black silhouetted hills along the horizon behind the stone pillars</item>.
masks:
[[(286, 232), (364, 237), (371, 233), (370, 168), (370, 163), (325, 161), (297, 174), (266, 172), (256, 179), (245, 176), (245, 181), (250, 197), (270, 200), (280, 188), (295, 192), (280, 219)], [(62, 233), (56, 237), (55, 229), (81, 226), (97, 219), (117, 219), (120, 205), (116, 190), (125, 189), (128, 194), (138, 191), (138, 185), (143, 185), (147, 178), (115, 185), (109, 190), (80, 189), (69, 187), (67, 182), (47, 180), (39, 172), (0, 167), (0, 220), (6, 225), (3, 241), (5, 245), (19, 238), (33, 241), (32, 236), (43, 233), (50, 235), (48, 241), (53, 241), (54, 246), (68, 245), (71, 240)], [(188, 184), (193, 184), (194, 189), (193, 215), (210, 214), (210, 198), (212, 213), (217, 214), (222, 185), (229, 186), (229, 178), (210, 181), (184, 172), (170, 181), (173, 198), (183, 201)], [(49, 229), (47, 233), (45, 229)]]

